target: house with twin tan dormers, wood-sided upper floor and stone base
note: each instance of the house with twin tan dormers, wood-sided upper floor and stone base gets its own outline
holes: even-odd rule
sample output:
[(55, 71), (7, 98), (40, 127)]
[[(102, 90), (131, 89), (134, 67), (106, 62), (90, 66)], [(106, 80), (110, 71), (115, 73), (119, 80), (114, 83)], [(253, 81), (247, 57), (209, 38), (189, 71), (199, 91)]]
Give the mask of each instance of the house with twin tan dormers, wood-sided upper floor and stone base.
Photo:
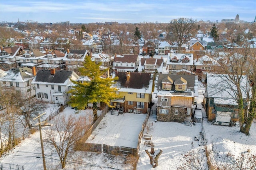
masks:
[(191, 119), (194, 97), (198, 97), (198, 78), (195, 75), (156, 74), (158, 121), (183, 122)]

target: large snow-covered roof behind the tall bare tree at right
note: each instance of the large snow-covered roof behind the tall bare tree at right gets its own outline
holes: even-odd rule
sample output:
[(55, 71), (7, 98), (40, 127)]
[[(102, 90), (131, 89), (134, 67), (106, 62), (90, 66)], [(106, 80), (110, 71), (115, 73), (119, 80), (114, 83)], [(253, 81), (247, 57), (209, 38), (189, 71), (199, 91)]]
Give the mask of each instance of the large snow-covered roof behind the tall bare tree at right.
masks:
[[(229, 78), (228, 74), (207, 74), (206, 93), (209, 98), (214, 98), (215, 104), (235, 104), (237, 105), (236, 93), (237, 88), (234, 82)], [(247, 76), (242, 76), (240, 81), (240, 89), (242, 96), (246, 98)], [(216, 100), (215, 100), (216, 98)], [(217, 102), (217, 103), (216, 103)]]

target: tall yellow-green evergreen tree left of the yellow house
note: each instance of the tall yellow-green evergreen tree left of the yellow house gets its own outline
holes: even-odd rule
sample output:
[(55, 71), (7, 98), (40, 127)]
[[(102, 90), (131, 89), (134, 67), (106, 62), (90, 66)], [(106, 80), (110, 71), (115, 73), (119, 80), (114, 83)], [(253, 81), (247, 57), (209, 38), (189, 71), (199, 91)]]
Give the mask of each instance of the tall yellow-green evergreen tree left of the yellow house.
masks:
[(118, 95), (116, 95), (117, 89), (112, 87), (114, 80), (118, 80), (118, 77), (101, 78), (100, 76), (106, 73), (108, 69), (100, 70), (101, 63), (96, 64), (91, 61), (90, 56), (86, 56), (83, 65), (83, 67), (78, 68), (80, 74), (81, 76), (88, 76), (90, 81), (82, 83), (72, 80), (76, 85), (69, 92), (72, 93), (69, 104), (78, 109), (85, 109), (89, 103), (92, 103), (94, 121), (96, 121), (98, 119), (97, 103), (100, 102), (110, 106), (110, 101), (118, 98)]

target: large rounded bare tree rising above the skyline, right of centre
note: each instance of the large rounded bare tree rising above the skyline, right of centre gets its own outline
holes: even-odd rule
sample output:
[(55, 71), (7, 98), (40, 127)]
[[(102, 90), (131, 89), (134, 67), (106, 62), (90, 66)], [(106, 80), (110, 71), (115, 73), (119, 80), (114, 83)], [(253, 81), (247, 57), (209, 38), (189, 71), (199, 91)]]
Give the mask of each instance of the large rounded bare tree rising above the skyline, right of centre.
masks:
[(174, 19), (170, 22), (169, 31), (174, 41), (177, 41), (178, 53), (180, 53), (181, 45), (196, 31), (196, 24), (188, 18)]

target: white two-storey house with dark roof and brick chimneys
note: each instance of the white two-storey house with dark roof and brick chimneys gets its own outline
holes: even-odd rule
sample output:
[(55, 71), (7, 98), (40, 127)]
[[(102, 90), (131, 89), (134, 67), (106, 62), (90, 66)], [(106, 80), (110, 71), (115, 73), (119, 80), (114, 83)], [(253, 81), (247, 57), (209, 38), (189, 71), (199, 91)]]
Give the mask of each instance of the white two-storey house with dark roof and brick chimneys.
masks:
[(36, 98), (44, 102), (65, 105), (70, 100), (69, 84), (71, 80), (77, 80), (79, 76), (73, 71), (67, 70), (38, 70), (32, 84), (36, 87)]

